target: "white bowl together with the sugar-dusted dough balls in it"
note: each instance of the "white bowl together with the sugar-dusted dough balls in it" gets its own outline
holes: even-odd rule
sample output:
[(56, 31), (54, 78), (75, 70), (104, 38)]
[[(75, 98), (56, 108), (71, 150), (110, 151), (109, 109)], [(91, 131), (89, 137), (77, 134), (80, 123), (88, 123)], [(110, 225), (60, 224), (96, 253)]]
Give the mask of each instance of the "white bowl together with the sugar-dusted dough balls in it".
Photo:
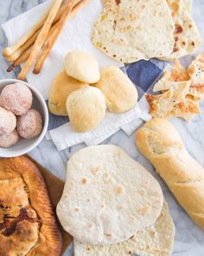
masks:
[[(6, 132), (0, 135), (0, 157), (15, 157), (34, 149), (48, 129), (48, 108), (41, 94), (27, 82), (3, 79), (0, 106), (0, 119), (6, 115), (8, 122)], [(19, 119), (24, 120), (21, 126)], [(4, 121), (0, 121), (3, 131), (1, 126), (5, 127)], [(29, 128), (29, 135), (24, 135), (22, 128)]]

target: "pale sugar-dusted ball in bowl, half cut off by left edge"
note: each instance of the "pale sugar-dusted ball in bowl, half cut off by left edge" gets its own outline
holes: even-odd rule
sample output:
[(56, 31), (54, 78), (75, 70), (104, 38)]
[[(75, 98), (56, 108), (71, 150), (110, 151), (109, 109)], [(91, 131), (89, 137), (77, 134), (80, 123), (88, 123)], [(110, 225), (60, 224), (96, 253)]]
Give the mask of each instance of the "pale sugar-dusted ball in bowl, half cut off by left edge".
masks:
[(0, 135), (10, 134), (16, 128), (16, 116), (0, 107)]

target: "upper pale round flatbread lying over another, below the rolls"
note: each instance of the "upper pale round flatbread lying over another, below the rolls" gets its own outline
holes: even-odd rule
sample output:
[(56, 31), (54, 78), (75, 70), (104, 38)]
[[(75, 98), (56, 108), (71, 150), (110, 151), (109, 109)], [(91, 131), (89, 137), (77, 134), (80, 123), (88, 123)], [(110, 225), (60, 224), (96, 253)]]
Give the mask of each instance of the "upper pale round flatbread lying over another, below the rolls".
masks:
[(121, 148), (83, 148), (67, 163), (57, 215), (76, 240), (92, 245), (129, 239), (155, 223), (163, 208), (156, 179)]

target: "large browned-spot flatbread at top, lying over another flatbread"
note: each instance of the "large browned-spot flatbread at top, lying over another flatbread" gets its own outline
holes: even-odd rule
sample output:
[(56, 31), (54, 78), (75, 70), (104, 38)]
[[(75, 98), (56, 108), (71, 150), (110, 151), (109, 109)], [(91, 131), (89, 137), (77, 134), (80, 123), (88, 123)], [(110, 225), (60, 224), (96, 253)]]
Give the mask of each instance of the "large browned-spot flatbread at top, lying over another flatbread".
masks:
[(174, 23), (165, 0), (106, 0), (92, 43), (119, 62), (169, 56)]

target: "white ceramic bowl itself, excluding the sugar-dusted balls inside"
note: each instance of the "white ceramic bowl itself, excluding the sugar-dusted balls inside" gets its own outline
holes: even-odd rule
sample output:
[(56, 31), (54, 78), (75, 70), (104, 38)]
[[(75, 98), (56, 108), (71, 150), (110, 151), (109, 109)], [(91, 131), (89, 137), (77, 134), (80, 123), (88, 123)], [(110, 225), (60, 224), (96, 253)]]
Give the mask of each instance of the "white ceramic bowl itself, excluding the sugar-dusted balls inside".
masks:
[[(16, 79), (0, 80), (0, 92), (7, 84), (15, 83), (15, 82), (22, 82), (22, 81), (19, 81)], [(42, 98), (41, 94), (32, 85), (30, 85), (28, 82), (23, 82), (23, 83), (29, 87), (29, 89), (33, 94), (32, 108), (37, 109), (41, 113), (41, 116), (43, 119), (43, 128), (41, 131), (41, 135), (29, 140), (21, 138), (20, 141), (16, 143), (16, 145), (10, 148), (0, 148), (0, 157), (15, 157), (18, 155), (28, 153), (29, 151), (37, 147), (37, 145), (42, 141), (48, 129), (48, 108), (47, 108), (46, 102)]]

